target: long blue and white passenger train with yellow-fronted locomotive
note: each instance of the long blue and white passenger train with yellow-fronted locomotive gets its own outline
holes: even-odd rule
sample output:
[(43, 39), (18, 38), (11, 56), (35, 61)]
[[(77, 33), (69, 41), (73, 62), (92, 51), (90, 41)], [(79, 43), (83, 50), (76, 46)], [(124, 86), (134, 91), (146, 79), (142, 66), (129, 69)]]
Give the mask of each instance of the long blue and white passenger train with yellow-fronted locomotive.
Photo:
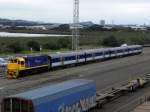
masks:
[(7, 65), (7, 77), (16, 79), (22, 76), (50, 71), (54, 68), (70, 65), (81, 65), (94, 61), (140, 54), (141, 45), (130, 45), (113, 48), (89, 49), (67, 53), (21, 56), (10, 60)]

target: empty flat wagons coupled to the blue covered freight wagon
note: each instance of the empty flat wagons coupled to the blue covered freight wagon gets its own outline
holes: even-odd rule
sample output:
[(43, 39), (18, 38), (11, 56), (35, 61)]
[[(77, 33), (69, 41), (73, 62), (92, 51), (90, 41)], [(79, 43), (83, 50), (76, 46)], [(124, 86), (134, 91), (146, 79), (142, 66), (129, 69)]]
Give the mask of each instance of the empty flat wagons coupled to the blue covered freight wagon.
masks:
[[(149, 84), (150, 82), (150, 75), (146, 75), (143, 78), (140, 79), (134, 79), (130, 82), (127, 82), (124, 85), (121, 85), (119, 87), (116, 87), (112, 89), (111, 91), (106, 92), (105, 94), (97, 93), (97, 106), (98, 108), (95, 108), (91, 112), (98, 112), (100, 108), (102, 108), (105, 104), (108, 104), (122, 96), (125, 96), (126, 94), (134, 94), (138, 89), (142, 89), (145, 87), (145, 85)], [(134, 101), (134, 100), (133, 100)], [(135, 100), (133, 103), (135, 104), (140, 100)], [(128, 104), (129, 105), (129, 104)], [(127, 105), (127, 106), (128, 106)], [(117, 109), (115, 112), (122, 112), (126, 106), (123, 106), (119, 109)]]

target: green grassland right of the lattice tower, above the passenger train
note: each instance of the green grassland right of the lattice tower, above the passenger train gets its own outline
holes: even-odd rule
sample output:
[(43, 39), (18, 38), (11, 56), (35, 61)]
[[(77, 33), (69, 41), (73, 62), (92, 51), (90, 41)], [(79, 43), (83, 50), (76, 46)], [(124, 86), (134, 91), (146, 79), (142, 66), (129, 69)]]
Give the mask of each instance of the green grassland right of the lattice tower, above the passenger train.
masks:
[(82, 32), (80, 43), (81, 45), (99, 45), (102, 40), (110, 35), (117, 37), (118, 40), (124, 40), (126, 43), (131, 43), (131, 41), (149, 38), (150, 32), (138, 32), (138, 31), (103, 31), (103, 32)]

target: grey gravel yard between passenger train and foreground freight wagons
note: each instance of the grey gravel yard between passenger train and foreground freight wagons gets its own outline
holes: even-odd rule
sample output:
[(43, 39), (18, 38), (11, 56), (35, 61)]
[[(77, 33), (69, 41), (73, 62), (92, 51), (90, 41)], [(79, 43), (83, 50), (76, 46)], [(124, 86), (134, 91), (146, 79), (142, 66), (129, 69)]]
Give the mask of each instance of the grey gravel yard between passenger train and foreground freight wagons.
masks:
[[(112, 87), (120, 86), (121, 84), (127, 82), (129, 79), (143, 76), (149, 73), (150, 48), (145, 48), (144, 53), (140, 55), (51, 71), (48, 73), (28, 76), (17, 80), (8, 80), (5, 77), (0, 77), (0, 99), (7, 95), (16, 94), (47, 84), (54, 84), (75, 78), (95, 80), (97, 90), (101, 93), (104, 93)], [(117, 112), (117, 109), (122, 107), (123, 109), (128, 108), (124, 109), (124, 112), (128, 112), (129, 107), (131, 110), (134, 105), (127, 105), (126, 107), (124, 105), (145, 95), (149, 91), (150, 87), (147, 87), (146, 89), (142, 89), (141, 91), (135, 93), (135, 95), (131, 94), (121, 97), (106, 105), (105, 108), (101, 109), (101, 111)]]

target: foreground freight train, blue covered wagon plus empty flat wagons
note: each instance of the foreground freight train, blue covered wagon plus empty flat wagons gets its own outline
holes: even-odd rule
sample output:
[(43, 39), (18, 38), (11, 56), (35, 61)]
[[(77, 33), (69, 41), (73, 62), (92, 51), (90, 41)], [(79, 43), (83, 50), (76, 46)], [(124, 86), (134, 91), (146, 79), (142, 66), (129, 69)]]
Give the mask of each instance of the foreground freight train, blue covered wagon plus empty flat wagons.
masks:
[(96, 91), (93, 80), (73, 79), (6, 96), (1, 103), (1, 112), (89, 112), (125, 93), (135, 92), (149, 82), (150, 75), (101, 94)]

